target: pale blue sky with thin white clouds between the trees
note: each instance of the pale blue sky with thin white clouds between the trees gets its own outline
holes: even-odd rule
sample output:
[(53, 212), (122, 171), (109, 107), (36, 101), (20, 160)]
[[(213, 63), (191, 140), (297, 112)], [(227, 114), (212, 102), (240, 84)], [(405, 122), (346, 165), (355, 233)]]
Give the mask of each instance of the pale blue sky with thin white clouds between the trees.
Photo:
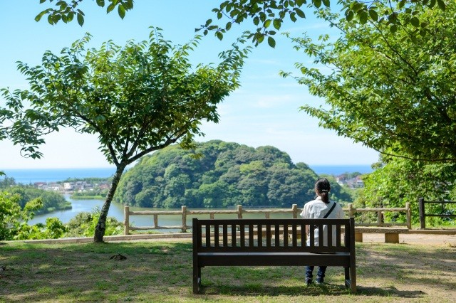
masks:
[[(37, 65), (46, 50), (58, 53), (86, 32), (93, 35), (91, 46), (95, 48), (108, 40), (120, 46), (130, 39), (147, 40), (149, 26), (162, 28), (163, 36), (174, 44), (186, 43), (195, 35), (195, 28), (207, 18), (215, 19), (211, 10), (218, 2), (136, 0), (133, 11), (122, 20), (115, 11), (106, 14), (95, 1), (86, 0), (81, 6), (86, 14), (82, 28), (76, 21), (56, 26), (46, 20), (37, 23), (34, 21), (36, 14), (46, 8), (38, 3), (38, 0), (2, 1), (0, 87), (26, 88), (25, 77), (16, 70), (16, 61)], [(328, 26), (316, 20), (308, 9), (306, 16), (307, 19), (296, 23), (286, 23), (284, 31), (295, 36), (304, 32), (309, 36), (328, 33)], [(233, 27), (223, 41), (211, 34), (204, 37), (192, 53), (192, 62), (195, 65), (217, 63), (218, 53), (247, 29), (254, 28), (249, 24)], [(306, 87), (293, 79), (281, 78), (279, 71), (293, 71), (294, 63), (311, 64), (311, 60), (293, 50), (286, 38), (279, 36), (276, 40), (275, 49), (264, 43), (252, 50), (242, 72), (242, 87), (219, 106), (218, 124), (203, 123), (206, 136), (197, 141), (221, 139), (250, 147), (272, 145), (288, 153), (295, 163), (310, 165), (372, 164), (377, 161), (376, 151), (319, 128), (317, 119), (299, 112), (299, 106), (318, 105), (321, 100), (311, 96)], [(3, 106), (4, 100), (0, 100), (0, 104)], [(19, 150), (11, 142), (0, 142), (0, 170), (110, 166), (98, 151), (95, 136), (76, 134), (72, 129), (46, 137), (46, 145), (41, 149), (43, 159), (26, 159), (21, 157)]]

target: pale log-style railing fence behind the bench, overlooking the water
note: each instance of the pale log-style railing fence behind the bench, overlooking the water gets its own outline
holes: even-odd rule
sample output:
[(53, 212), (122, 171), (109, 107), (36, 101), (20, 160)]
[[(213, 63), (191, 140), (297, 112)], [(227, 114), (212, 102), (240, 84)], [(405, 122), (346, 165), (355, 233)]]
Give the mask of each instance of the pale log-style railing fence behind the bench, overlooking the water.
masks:
[[(187, 225), (187, 216), (197, 215), (209, 215), (209, 218), (213, 219), (215, 215), (236, 215), (237, 218), (242, 219), (244, 214), (249, 213), (264, 213), (264, 218), (269, 219), (271, 213), (290, 213), (291, 218), (298, 218), (299, 213), (302, 209), (298, 208), (297, 204), (293, 204), (291, 208), (273, 208), (273, 209), (244, 209), (241, 205), (238, 205), (234, 210), (188, 210), (187, 206), (182, 206), (180, 211), (130, 211), (129, 206), (124, 208), (124, 234), (128, 235), (133, 230), (166, 230), (166, 229), (180, 229), (182, 233), (187, 232), (191, 229), (191, 225)], [(392, 225), (405, 225), (408, 229), (411, 229), (411, 213), (410, 203), (405, 203), (405, 208), (354, 208), (352, 204), (348, 204), (348, 208), (343, 208), (343, 211), (348, 213), (349, 217), (353, 217), (355, 213), (363, 212), (376, 212), (377, 222), (376, 223), (357, 223), (358, 226), (392, 226)], [(406, 223), (384, 223), (383, 213), (384, 212), (405, 212)], [(182, 225), (167, 225), (160, 226), (158, 224), (158, 216), (169, 216), (169, 215), (181, 215)], [(130, 216), (153, 216), (152, 226), (130, 226)]]

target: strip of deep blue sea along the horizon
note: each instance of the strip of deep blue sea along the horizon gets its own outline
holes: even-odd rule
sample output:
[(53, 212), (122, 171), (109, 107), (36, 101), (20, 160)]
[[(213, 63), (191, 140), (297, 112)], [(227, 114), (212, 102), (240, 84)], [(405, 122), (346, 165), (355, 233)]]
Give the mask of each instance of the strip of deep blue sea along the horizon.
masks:
[[(344, 173), (371, 173), (371, 165), (309, 165), (316, 174), (338, 176)], [(88, 169), (1, 169), (6, 176), (14, 178), (16, 183), (34, 184), (36, 182), (57, 182), (68, 178), (108, 178), (115, 173), (115, 167)], [(0, 176), (0, 180), (4, 176)]]

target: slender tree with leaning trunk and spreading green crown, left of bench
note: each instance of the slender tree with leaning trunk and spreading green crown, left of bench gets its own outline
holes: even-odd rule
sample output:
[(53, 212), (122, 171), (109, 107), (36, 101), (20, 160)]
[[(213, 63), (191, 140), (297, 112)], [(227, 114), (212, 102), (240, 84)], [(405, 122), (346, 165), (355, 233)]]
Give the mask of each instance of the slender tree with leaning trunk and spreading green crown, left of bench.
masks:
[[(63, 48), (60, 56), (48, 51), (41, 65), (33, 68), (18, 63), (30, 89), (1, 91), (14, 113), (4, 130), (17, 142), (28, 142), (15, 132), (17, 124), (39, 129), (35, 140), (59, 127), (98, 135), (100, 151), (116, 166), (95, 228), (94, 241), (101, 242), (125, 167), (175, 142), (191, 147), (193, 138), (202, 135), (202, 120), (218, 122), (217, 105), (239, 87), (237, 79), (249, 48), (234, 45), (219, 55), (219, 65), (192, 69), (187, 56), (199, 36), (172, 46), (159, 28), (152, 28), (149, 41), (130, 41), (123, 48), (109, 41), (100, 49), (86, 49), (89, 41), (86, 34)], [(30, 107), (24, 107), (26, 103)], [(30, 152), (28, 148), (24, 144), (22, 150)]]

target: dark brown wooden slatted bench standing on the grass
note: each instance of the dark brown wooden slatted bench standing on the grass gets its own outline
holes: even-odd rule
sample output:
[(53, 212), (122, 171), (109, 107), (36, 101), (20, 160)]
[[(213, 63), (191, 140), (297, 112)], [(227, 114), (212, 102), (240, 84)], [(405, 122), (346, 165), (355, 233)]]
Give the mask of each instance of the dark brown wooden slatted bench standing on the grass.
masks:
[[(305, 225), (318, 225), (318, 243), (323, 243), (323, 225), (328, 225), (329, 246), (315, 246), (314, 229), (311, 228), (308, 236), (304, 232)], [(335, 246), (332, 245), (333, 228), (336, 229), (337, 235)], [(345, 269), (345, 286), (349, 287), (351, 292), (356, 292), (353, 218), (232, 220), (194, 218), (192, 230), (193, 292), (195, 294), (199, 292), (201, 268), (205, 266), (341, 266)], [(342, 230), (346, 232), (343, 233)], [(307, 237), (311, 240), (309, 246), (306, 245)]]

